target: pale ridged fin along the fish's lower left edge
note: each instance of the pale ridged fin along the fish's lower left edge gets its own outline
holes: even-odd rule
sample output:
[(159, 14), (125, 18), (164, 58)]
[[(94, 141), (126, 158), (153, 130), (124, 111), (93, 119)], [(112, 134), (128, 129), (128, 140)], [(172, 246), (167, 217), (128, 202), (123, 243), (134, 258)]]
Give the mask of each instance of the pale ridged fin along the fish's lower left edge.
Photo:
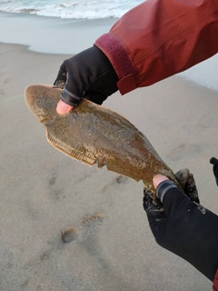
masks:
[(54, 139), (52, 135), (49, 135), (49, 133), (46, 131), (46, 137), (47, 141), (54, 146), (56, 149), (64, 153), (66, 156), (70, 156), (74, 158), (77, 161), (82, 162), (83, 164), (87, 166), (93, 166), (96, 163), (96, 158), (92, 153), (82, 153), (81, 151), (78, 151), (77, 149), (69, 149), (67, 146), (64, 146), (63, 143), (57, 141)]

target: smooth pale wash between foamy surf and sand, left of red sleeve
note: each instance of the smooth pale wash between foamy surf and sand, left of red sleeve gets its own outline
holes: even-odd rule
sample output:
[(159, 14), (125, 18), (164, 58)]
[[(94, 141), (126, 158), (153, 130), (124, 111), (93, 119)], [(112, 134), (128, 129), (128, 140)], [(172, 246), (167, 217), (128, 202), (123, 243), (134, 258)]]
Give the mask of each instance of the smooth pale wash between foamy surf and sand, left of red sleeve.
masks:
[(74, 55), (92, 46), (107, 33), (116, 18), (66, 19), (25, 13), (0, 12), (0, 42), (28, 45), (29, 50), (45, 54)]

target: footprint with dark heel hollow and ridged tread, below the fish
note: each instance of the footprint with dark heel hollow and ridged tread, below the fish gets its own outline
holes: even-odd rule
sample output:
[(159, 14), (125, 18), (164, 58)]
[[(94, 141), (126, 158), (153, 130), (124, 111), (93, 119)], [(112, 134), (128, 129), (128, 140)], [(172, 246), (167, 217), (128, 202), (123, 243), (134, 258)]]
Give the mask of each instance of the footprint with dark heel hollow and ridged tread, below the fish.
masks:
[(99, 226), (103, 224), (104, 214), (85, 216), (78, 226), (70, 227), (62, 232), (62, 240), (65, 244), (72, 242), (76, 238), (83, 238), (95, 233)]

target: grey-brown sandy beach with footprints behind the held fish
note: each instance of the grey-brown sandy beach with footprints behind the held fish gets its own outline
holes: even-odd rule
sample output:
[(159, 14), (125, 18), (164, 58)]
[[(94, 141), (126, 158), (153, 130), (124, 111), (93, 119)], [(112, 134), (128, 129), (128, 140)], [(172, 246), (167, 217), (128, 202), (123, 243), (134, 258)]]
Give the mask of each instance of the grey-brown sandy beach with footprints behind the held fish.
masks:
[[(142, 182), (84, 166), (47, 143), (45, 129), (25, 105), (25, 86), (53, 84), (71, 54), (36, 53), (4, 37), (0, 290), (212, 290), (193, 266), (155, 243)], [(217, 91), (175, 75), (128, 95), (116, 93), (104, 106), (140, 129), (174, 172), (188, 167), (202, 205), (218, 214), (209, 164), (217, 157)], [(61, 233), (69, 227), (77, 236), (65, 244)]]

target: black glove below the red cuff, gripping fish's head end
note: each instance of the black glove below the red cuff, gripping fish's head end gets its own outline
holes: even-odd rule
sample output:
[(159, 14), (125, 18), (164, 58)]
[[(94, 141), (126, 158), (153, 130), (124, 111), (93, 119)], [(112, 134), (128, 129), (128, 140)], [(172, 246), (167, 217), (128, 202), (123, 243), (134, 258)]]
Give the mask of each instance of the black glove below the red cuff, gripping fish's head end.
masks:
[(54, 85), (64, 87), (61, 99), (68, 105), (78, 105), (83, 97), (101, 105), (118, 90), (118, 80), (108, 58), (93, 46), (65, 60)]

